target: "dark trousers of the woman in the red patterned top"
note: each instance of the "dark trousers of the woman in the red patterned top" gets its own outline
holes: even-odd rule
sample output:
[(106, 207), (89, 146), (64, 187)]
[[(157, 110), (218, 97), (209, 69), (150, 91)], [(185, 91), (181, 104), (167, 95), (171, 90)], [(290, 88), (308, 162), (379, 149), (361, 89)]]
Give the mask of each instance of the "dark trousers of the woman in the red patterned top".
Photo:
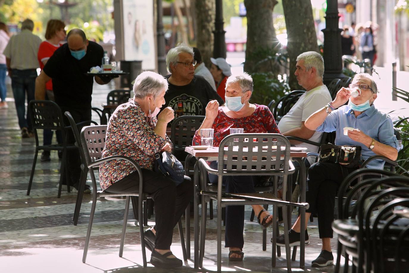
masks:
[[(216, 161), (214, 161), (216, 162)], [(217, 169), (213, 164), (213, 169)], [(209, 174), (210, 183), (216, 183), (218, 176)], [(257, 176), (223, 176), (223, 184), (226, 193), (252, 193), (254, 190), (254, 180)], [(226, 206), (226, 229), (225, 229), (225, 247), (243, 248), (243, 228), (244, 228), (244, 205)]]

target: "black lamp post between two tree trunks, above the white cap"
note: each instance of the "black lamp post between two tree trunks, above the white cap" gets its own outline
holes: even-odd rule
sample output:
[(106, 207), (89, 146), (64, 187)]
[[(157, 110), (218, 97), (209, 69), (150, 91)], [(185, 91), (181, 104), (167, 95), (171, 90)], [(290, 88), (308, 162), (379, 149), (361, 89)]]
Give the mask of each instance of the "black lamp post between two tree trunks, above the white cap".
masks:
[(214, 47), (213, 47), (213, 57), (214, 58), (226, 58), (226, 41), (225, 41), (225, 30), (223, 28), (223, 1), (216, 0), (216, 19), (214, 21)]

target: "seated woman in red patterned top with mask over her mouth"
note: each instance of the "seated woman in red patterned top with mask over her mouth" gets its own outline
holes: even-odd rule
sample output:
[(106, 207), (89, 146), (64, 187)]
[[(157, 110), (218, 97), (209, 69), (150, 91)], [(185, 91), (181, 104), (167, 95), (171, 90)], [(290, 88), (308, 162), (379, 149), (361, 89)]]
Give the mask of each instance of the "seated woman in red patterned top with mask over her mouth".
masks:
[[(218, 147), (223, 138), (230, 134), (230, 128), (243, 128), (244, 133), (280, 133), (270, 109), (265, 105), (250, 104), (253, 93), (253, 79), (247, 74), (231, 75), (226, 82), (225, 106), (219, 107), (216, 100), (206, 106), (206, 118), (196, 131), (193, 145), (200, 145), (200, 130), (213, 128), (213, 146)], [(210, 167), (217, 169), (217, 161)], [(227, 193), (254, 192), (257, 176), (223, 176)], [(211, 183), (217, 182), (217, 176), (209, 174)], [(258, 222), (267, 228), (272, 224), (272, 215), (261, 205), (252, 205)], [(243, 260), (244, 206), (226, 207), (225, 247), (228, 247), (230, 261)]]

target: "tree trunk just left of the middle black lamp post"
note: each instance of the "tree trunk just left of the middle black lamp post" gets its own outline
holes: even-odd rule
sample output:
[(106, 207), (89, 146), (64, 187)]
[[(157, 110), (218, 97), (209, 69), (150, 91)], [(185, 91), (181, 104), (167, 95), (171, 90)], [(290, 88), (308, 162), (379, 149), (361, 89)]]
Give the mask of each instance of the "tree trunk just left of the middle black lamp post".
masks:
[(197, 47), (200, 50), (202, 60), (207, 67), (210, 67), (210, 57), (213, 56), (215, 7), (214, 0), (195, 1)]

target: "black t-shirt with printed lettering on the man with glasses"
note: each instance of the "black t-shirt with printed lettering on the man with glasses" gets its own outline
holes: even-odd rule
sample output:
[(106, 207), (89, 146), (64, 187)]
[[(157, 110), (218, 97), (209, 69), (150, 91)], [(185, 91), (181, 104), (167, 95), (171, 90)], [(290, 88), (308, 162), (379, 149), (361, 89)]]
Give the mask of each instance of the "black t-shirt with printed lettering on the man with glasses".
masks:
[[(168, 79), (171, 75), (166, 76)], [(176, 86), (169, 83), (169, 89), (165, 94), (166, 103), (162, 106), (164, 109), (170, 106), (174, 110), (178, 108), (178, 98), (182, 98), (183, 112), (186, 116), (206, 115), (206, 106), (210, 100), (217, 99), (220, 105), (225, 102), (211, 87), (211, 85), (202, 76), (195, 75), (193, 80), (184, 86)]]

